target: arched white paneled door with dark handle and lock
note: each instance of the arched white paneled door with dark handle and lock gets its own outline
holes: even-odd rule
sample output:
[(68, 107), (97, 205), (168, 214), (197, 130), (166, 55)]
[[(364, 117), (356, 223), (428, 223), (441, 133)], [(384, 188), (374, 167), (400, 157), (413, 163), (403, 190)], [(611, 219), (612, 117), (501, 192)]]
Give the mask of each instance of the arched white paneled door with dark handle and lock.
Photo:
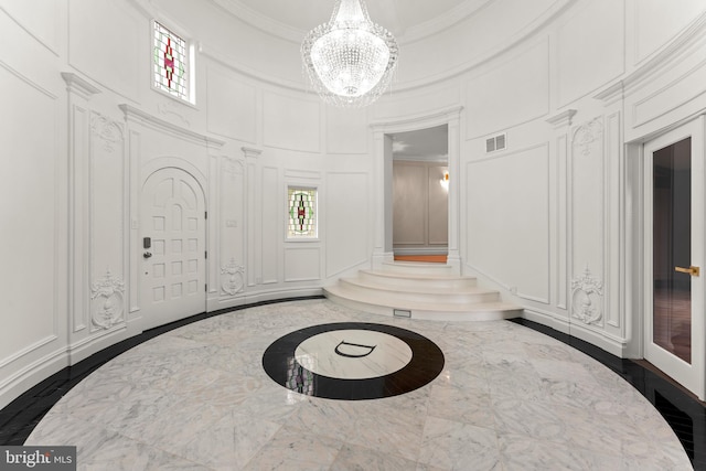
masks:
[(143, 329), (205, 311), (206, 225), (201, 185), (167, 168), (142, 186), (141, 310)]

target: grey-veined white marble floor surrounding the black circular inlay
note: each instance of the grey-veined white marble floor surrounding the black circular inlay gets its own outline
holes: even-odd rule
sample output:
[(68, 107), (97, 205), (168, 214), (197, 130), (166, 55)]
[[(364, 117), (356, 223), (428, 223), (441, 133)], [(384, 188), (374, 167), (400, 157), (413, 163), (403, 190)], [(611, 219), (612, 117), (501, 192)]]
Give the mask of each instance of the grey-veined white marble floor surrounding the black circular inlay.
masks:
[[(417, 332), (438, 377), (370, 400), (299, 394), (263, 354), (311, 325)], [(238, 310), (156, 336), (64, 395), (25, 445), (75, 445), (87, 470), (688, 470), (684, 448), (629, 383), (509, 322), (384, 318), (324, 299)]]

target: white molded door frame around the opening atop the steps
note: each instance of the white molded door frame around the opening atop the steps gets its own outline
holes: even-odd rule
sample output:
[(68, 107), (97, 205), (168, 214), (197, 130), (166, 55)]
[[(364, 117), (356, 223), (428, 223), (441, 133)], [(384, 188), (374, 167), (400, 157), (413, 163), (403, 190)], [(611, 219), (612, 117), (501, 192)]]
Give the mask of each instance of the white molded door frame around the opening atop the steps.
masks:
[(394, 259), (393, 253), (393, 156), (392, 143), (386, 135), (395, 132), (410, 132), (421, 129), (448, 125), (449, 127), (449, 244), (447, 265), (461, 272), (460, 255), (460, 169), (461, 169), (461, 137), (460, 122), (462, 106), (446, 108), (436, 113), (413, 118), (400, 118), (374, 122), (371, 125), (374, 146), (374, 201), (375, 231), (373, 240), (373, 268), (379, 268), (383, 263)]

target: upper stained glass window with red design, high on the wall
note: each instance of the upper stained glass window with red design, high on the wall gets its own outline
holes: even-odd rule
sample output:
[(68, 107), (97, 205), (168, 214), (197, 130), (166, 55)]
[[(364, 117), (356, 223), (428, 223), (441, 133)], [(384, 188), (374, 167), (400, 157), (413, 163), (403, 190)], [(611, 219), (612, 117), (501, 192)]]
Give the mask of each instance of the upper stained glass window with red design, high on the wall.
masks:
[(154, 22), (154, 87), (189, 101), (186, 41)]

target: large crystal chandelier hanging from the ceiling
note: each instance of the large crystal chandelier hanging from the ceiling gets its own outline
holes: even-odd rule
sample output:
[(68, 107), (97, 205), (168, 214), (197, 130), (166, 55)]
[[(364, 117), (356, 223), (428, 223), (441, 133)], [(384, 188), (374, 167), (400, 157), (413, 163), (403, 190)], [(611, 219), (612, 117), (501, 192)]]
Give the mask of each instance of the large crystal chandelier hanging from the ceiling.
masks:
[(371, 21), (363, 0), (336, 0), (328, 23), (307, 34), (304, 68), (321, 98), (341, 107), (363, 107), (387, 89), (397, 66), (395, 36)]

